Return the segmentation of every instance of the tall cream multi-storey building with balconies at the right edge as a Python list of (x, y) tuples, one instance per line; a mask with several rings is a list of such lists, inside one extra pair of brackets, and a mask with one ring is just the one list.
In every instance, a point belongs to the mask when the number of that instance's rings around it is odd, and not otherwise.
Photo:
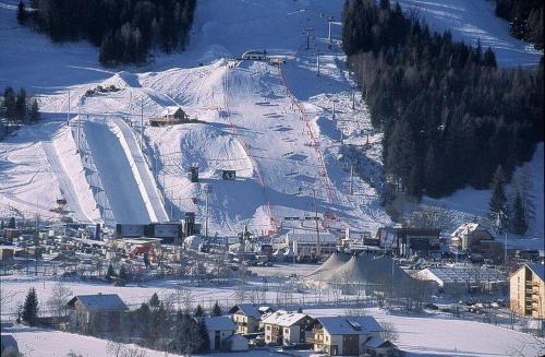
[(545, 265), (531, 263), (509, 277), (509, 306), (519, 316), (545, 320)]

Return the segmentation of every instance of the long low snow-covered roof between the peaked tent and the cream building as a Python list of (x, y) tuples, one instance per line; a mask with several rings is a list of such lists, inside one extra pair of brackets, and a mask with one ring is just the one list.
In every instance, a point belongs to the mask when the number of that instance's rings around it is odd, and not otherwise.
[(475, 266), (444, 266), (428, 267), (419, 272), (425, 273), (428, 277), (432, 275), (443, 283), (476, 283), (476, 282), (505, 282), (506, 275), (496, 269), (475, 267)]

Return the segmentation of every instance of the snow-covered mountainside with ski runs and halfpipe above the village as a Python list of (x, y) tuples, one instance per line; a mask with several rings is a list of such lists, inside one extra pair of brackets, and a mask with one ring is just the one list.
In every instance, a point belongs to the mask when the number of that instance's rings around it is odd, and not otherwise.
[[(268, 0), (198, 1), (185, 52), (156, 53), (153, 63), (114, 70), (101, 68), (96, 48), (85, 41), (52, 44), (21, 27), (13, 10), (17, 1), (0, 2), (8, 4), (0, 7), (0, 33), (5, 35), (0, 36), (0, 85), (38, 94), (46, 117), (57, 123), (22, 129), (0, 143), (0, 175), (8, 178), (0, 188), (3, 215), (17, 207), (25, 215), (56, 217), (50, 209), (66, 197), (75, 218), (110, 223), (179, 219), (184, 212), (196, 212), (203, 222), (208, 201), (210, 235), (235, 235), (245, 225), (258, 234), (315, 229), (313, 221), (283, 219), (313, 216), (315, 209), (324, 228), (373, 231), (391, 224), (377, 191), (384, 180), (382, 134), (373, 130), (346, 68), (340, 26), (332, 26), (332, 46), (327, 46), (327, 17), (340, 19), (343, 0), (278, 0), (275, 5)], [(481, 38), (497, 50), (501, 66), (538, 60), (528, 44), (508, 35), (507, 23), (494, 16), (485, 0), (401, 3), (407, 10), (416, 7), (434, 28), (451, 28), (467, 41)], [(310, 49), (304, 28), (313, 29)], [(250, 49), (266, 49), (287, 61), (278, 68), (233, 60)], [(84, 95), (97, 85), (119, 91)], [(147, 118), (171, 105), (199, 122), (147, 124)], [(69, 107), (72, 126), (74, 114), (82, 114), (98, 172), (87, 167), (86, 156), (75, 154), (73, 139), (56, 141), (55, 152), (48, 145)], [(135, 136), (141, 111), (143, 152)], [(110, 126), (99, 123), (104, 118)], [(186, 177), (194, 164), (201, 182)], [(31, 174), (26, 165), (48, 174)], [(235, 170), (237, 180), (222, 180), (223, 169)], [(543, 180), (542, 172), (533, 172)], [(41, 204), (32, 203), (36, 197)], [(473, 214), (448, 202), (426, 204), (445, 206), (463, 219)], [(106, 218), (109, 210), (113, 217)]]

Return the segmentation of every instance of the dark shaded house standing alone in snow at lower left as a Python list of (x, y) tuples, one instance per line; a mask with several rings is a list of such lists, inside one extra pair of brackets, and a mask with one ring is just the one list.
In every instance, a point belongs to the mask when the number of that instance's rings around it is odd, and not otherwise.
[(77, 295), (68, 307), (71, 329), (94, 333), (113, 331), (120, 324), (121, 314), (129, 311), (117, 294)]

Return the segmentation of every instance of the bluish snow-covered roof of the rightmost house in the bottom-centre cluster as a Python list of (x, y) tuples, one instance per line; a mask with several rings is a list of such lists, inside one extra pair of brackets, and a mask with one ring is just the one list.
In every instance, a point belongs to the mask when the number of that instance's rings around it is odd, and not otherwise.
[(318, 322), (331, 335), (364, 335), (383, 330), (373, 317), (324, 317)]

